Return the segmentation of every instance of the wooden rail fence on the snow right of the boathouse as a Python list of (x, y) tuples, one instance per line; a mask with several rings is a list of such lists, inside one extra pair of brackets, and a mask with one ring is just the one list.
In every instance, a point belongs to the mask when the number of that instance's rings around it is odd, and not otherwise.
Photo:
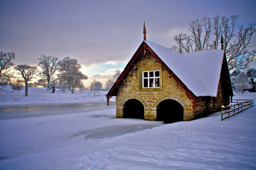
[[(229, 106), (221, 107), (221, 121), (254, 106), (254, 100), (237, 100), (236, 99), (236, 100), (232, 100), (231, 102), (237, 103), (237, 104), (234, 104), (234, 105), (231, 104)], [(224, 112), (224, 110), (227, 110), (227, 109), (228, 111)], [(223, 115), (226, 115), (226, 114), (228, 115), (224, 117)]]

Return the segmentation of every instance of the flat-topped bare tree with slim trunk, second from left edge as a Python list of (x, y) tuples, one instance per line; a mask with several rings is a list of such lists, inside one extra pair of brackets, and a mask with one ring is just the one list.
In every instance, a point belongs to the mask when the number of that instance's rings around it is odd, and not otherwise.
[(27, 64), (20, 64), (14, 67), (20, 72), (25, 82), (25, 96), (28, 96), (28, 82), (33, 79), (33, 76), (37, 73), (36, 66), (30, 66)]

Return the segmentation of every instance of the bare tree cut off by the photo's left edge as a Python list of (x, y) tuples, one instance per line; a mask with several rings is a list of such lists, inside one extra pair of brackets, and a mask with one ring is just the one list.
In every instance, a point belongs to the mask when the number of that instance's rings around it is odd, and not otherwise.
[(15, 59), (15, 53), (4, 53), (0, 52), (0, 84), (6, 84), (12, 77), (9, 72), (10, 68), (14, 65), (13, 60)]

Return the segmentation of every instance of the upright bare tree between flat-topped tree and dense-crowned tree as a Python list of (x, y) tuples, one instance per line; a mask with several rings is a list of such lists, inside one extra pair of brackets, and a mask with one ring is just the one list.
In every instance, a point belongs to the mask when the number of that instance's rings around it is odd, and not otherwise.
[(47, 56), (44, 54), (39, 59), (38, 66), (42, 68), (42, 72), (38, 74), (39, 77), (46, 79), (47, 89), (50, 89), (50, 81), (53, 78), (55, 72), (58, 70), (57, 57)]

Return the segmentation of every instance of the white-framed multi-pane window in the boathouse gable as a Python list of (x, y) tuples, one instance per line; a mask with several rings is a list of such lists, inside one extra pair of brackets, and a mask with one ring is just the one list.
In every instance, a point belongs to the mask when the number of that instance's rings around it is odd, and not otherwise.
[(143, 71), (142, 72), (143, 88), (159, 88), (160, 87), (160, 71)]

